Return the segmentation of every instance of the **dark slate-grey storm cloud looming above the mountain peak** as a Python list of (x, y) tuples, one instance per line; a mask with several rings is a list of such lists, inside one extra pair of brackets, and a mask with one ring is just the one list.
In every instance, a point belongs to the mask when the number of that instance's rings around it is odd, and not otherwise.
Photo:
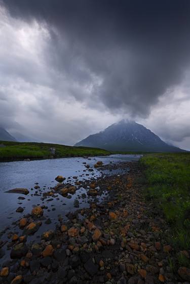
[[(13, 17), (48, 26), (49, 63), (79, 84), (94, 82), (91, 106), (102, 102), (113, 111), (146, 116), (188, 68), (188, 0), (6, 0), (4, 5)], [(88, 102), (77, 88), (72, 92)]]

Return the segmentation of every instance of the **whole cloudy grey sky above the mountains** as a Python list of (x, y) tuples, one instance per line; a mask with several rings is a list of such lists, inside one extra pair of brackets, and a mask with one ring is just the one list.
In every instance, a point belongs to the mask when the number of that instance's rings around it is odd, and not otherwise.
[(0, 124), (73, 145), (123, 118), (190, 150), (188, 0), (0, 0)]

